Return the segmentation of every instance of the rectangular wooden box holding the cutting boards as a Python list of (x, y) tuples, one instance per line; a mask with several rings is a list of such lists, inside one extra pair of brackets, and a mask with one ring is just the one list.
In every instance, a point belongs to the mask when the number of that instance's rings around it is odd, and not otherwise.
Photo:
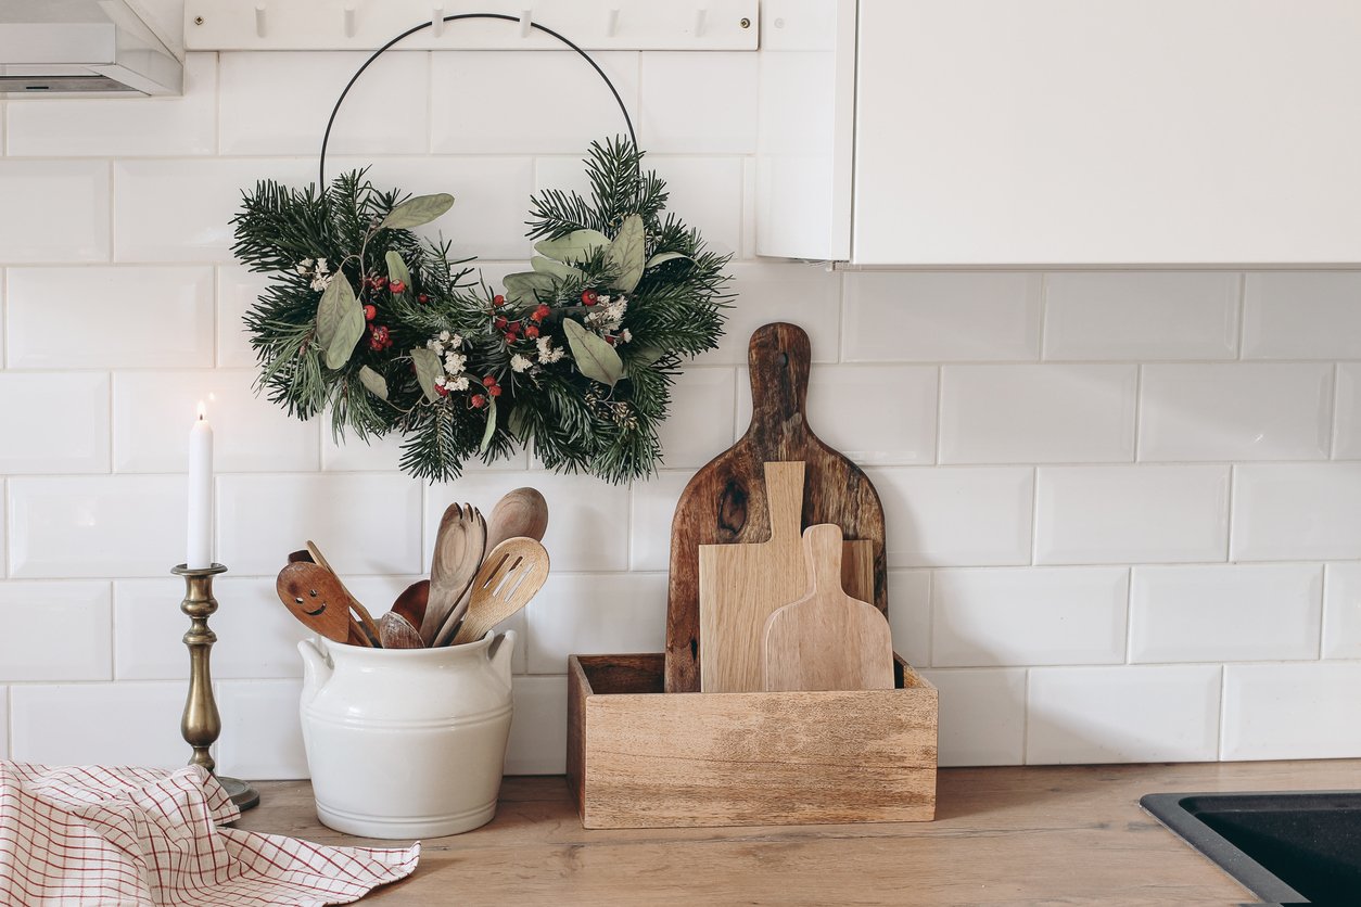
[(666, 694), (664, 657), (568, 660), (568, 783), (587, 828), (935, 817), (936, 689)]

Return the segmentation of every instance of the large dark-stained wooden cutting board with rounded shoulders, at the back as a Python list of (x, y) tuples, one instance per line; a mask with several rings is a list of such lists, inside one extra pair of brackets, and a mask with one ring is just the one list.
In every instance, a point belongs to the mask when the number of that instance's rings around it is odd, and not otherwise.
[[(870, 479), (825, 445), (807, 420), (808, 335), (770, 324), (751, 335), (751, 424), (738, 443), (709, 461), (680, 492), (671, 521), (667, 590), (667, 692), (700, 691), (700, 545), (750, 544), (770, 538), (765, 464), (803, 461), (800, 530), (841, 526), (845, 538), (874, 543), (875, 608), (887, 611), (883, 506)], [(849, 590), (848, 590), (849, 592)]]

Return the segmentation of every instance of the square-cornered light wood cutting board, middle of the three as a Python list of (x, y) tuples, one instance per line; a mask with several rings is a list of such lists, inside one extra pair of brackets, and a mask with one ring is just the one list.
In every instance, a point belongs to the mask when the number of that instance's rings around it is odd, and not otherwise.
[[(770, 538), (744, 545), (700, 545), (700, 689), (757, 692), (764, 688), (761, 651), (766, 620), (807, 594), (808, 568), (800, 536), (804, 464), (765, 464)], [(837, 543), (841, 541), (837, 529)], [(837, 589), (871, 596), (874, 543), (844, 543)]]

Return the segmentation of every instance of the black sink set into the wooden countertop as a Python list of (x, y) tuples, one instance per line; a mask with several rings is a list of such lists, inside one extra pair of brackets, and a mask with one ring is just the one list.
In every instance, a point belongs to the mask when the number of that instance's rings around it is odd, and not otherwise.
[(1139, 805), (1264, 902), (1361, 904), (1361, 791), (1149, 794)]

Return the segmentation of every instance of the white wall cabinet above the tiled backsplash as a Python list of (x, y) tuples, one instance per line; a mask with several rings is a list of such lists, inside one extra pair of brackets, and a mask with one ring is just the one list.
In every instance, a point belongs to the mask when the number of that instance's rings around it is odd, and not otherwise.
[(766, 0), (757, 246), (1361, 264), (1356, 0)]

